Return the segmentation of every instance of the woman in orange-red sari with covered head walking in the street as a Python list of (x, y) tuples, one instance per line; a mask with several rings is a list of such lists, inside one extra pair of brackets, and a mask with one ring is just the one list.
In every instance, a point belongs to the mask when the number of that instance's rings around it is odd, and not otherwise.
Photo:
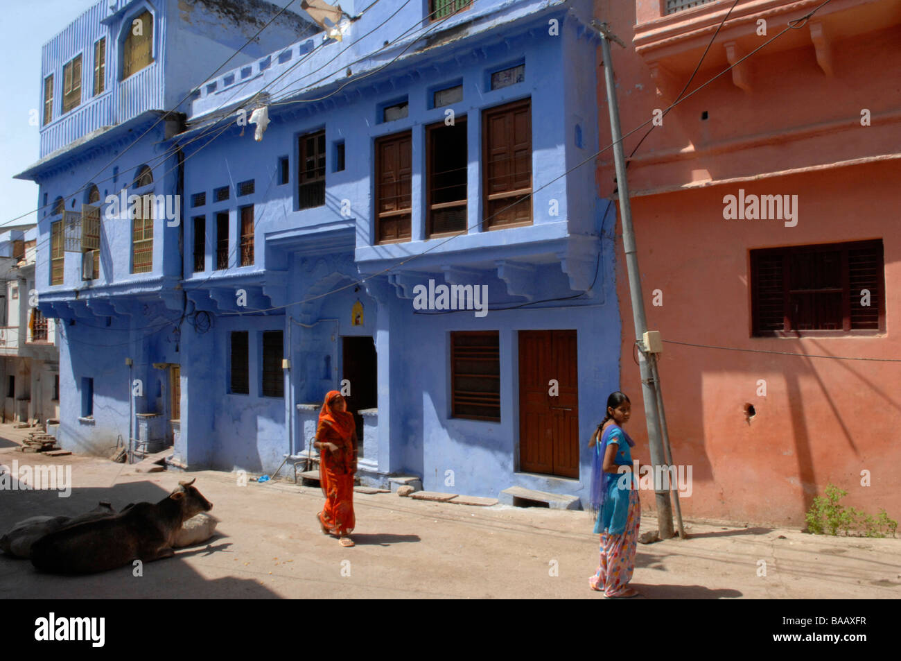
[(349, 535), (356, 524), (353, 474), (357, 472), (357, 425), (338, 390), (325, 396), (313, 445), (319, 450), (319, 481), (325, 494), (325, 507), (316, 519), (324, 534), (339, 537), (341, 546), (354, 546)]

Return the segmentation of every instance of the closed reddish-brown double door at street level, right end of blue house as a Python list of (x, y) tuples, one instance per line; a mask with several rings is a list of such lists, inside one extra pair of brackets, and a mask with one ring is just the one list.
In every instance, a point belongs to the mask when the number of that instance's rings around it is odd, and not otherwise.
[(574, 330), (519, 332), (520, 470), (578, 477), (577, 359)]

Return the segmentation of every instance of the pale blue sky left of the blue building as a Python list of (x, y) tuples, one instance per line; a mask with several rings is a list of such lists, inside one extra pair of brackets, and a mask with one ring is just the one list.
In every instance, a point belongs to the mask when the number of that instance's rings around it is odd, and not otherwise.
[[(0, 226), (35, 222), (38, 186), (13, 179), (40, 158), (39, 126), (29, 112), (41, 107), (41, 46), (97, 0), (3, 0), (0, 21)], [(39, 113), (40, 115), (40, 113)], [(19, 220), (15, 216), (29, 214)]]

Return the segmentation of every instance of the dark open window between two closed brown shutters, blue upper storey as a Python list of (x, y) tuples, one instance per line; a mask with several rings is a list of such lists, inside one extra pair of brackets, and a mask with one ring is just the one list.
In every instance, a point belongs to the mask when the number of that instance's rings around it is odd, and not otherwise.
[(426, 149), (429, 235), (462, 232), (467, 227), (466, 119), (458, 118), (452, 126), (429, 126)]

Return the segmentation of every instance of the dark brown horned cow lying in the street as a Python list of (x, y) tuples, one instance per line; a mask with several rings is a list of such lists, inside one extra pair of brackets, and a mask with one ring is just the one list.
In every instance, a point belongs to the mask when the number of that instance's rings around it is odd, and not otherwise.
[(113, 517), (67, 526), (32, 546), (32, 565), (53, 574), (95, 574), (175, 555), (173, 544), (182, 524), (213, 509), (191, 482), (158, 503), (139, 502)]

